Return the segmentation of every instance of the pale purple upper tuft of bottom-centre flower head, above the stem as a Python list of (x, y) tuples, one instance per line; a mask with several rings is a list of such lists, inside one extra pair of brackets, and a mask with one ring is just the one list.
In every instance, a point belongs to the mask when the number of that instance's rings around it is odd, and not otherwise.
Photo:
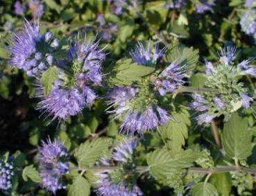
[(135, 139), (130, 139), (119, 143), (112, 153), (112, 158), (114, 161), (126, 162), (133, 157), (133, 151), (138, 145), (138, 141)]

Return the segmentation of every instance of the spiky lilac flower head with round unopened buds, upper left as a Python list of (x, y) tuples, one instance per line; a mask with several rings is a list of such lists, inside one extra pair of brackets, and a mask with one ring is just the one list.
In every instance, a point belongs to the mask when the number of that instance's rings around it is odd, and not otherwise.
[(58, 47), (51, 46), (56, 39), (49, 35), (51, 33), (40, 34), (39, 24), (25, 21), (22, 33), (12, 35), (8, 42), (10, 64), (23, 69), (28, 75), (37, 75), (45, 71), (53, 62), (53, 56), (49, 51), (54, 51)]

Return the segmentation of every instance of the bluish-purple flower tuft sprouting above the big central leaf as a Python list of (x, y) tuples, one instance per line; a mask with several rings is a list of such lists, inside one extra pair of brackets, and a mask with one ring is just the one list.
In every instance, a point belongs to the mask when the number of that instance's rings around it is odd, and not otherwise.
[(155, 44), (155, 49), (153, 52), (153, 55), (151, 53), (151, 40), (149, 40), (148, 45), (145, 46), (138, 42), (136, 48), (132, 51), (130, 51), (131, 57), (133, 57), (133, 60), (137, 62), (138, 64), (142, 65), (151, 65), (155, 64), (155, 62), (160, 59), (164, 55), (164, 51), (166, 48), (162, 48), (161, 50), (158, 48), (158, 44)]

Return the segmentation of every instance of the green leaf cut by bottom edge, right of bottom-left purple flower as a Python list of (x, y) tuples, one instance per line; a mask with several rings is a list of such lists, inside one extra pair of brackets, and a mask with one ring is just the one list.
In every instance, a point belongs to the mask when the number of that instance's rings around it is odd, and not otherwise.
[(73, 184), (69, 186), (67, 195), (68, 196), (89, 196), (90, 186), (84, 177), (81, 177), (80, 175), (76, 177)]

